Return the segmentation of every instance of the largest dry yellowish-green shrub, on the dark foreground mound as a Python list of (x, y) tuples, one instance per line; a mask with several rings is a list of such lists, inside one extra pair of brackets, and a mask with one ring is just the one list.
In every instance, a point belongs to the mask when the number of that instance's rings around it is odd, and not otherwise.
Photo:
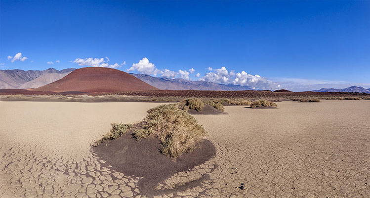
[[(137, 136), (153, 134), (162, 143), (162, 153), (176, 158), (181, 153), (192, 150), (195, 144), (206, 135), (205, 129), (197, 120), (176, 104), (163, 104), (147, 111), (144, 131), (137, 130)], [(134, 133), (136, 137), (136, 133)], [(144, 134), (142, 136), (141, 134)]]

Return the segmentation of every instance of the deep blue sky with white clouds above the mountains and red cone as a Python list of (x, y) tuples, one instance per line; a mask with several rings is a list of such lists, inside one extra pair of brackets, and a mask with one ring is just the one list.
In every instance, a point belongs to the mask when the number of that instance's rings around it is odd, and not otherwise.
[(370, 1), (0, 1), (0, 69), (89, 65), (256, 89), (369, 88)]

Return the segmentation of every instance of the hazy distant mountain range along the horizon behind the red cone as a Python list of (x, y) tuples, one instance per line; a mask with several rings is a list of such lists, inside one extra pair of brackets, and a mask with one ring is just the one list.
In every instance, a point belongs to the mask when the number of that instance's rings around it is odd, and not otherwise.
[[(31, 89), (63, 79), (75, 68), (57, 70), (49, 68), (46, 70), (0, 70), (0, 89)], [(224, 85), (207, 81), (189, 81), (180, 78), (153, 77), (146, 74), (133, 74), (132, 76), (141, 81), (162, 90), (214, 90), (214, 91), (239, 91), (253, 90), (248, 86)], [(127, 77), (127, 75), (126, 75)], [(344, 89), (323, 88), (313, 92), (358, 92), (370, 94), (370, 89), (351, 86)]]

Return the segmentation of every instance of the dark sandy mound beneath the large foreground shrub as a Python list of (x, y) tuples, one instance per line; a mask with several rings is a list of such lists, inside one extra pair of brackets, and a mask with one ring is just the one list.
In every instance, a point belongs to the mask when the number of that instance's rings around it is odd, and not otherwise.
[(208, 140), (203, 140), (191, 152), (183, 153), (173, 161), (160, 151), (161, 143), (155, 137), (137, 140), (127, 133), (122, 137), (93, 147), (93, 151), (111, 165), (113, 170), (127, 176), (143, 177), (138, 183), (141, 194), (153, 195), (158, 183), (173, 174), (188, 171), (216, 155), (216, 149)]

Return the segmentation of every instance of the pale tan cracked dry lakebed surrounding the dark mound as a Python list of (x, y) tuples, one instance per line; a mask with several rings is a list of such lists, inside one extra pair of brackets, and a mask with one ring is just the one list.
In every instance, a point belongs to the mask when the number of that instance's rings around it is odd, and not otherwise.
[[(139, 121), (159, 104), (0, 101), (0, 197), (140, 197), (140, 178), (110, 169), (90, 144), (111, 122)], [(217, 155), (159, 184), (158, 195), (369, 197), (370, 101), (278, 105), (194, 115)]]

